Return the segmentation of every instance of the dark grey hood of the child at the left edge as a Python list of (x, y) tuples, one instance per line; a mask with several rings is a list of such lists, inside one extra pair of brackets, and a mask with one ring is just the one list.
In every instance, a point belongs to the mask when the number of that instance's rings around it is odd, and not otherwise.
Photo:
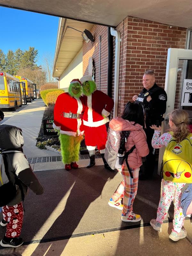
[(16, 126), (0, 125), (0, 148), (20, 149), (24, 144), (22, 130)]

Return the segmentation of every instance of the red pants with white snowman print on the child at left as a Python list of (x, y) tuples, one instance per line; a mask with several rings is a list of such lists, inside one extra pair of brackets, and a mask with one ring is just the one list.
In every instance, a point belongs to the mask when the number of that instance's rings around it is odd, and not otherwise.
[(21, 233), (23, 224), (23, 205), (22, 202), (13, 206), (3, 206), (3, 219), (8, 222), (6, 237), (18, 237)]

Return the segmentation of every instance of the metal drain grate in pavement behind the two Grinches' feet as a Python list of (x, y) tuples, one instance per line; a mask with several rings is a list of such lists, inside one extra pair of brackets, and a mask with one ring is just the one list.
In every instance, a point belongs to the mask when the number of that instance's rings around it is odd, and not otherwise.
[[(80, 159), (89, 159), (89, 155), (79, 155)], [(100, 153), (95, 154), (95, 158), (101, 158)], [(47, 163), (47, 162), (60, 162), (61, 156), (43, 156), (43, 157), (28, 157), (29, 163)]]

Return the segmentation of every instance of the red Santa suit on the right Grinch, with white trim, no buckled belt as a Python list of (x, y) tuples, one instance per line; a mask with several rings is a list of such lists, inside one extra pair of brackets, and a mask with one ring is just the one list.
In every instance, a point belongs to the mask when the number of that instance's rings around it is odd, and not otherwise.
[[(109, 114), (114, 106), (114, 101), (102, 91), (96, 90), (89, 96), (83, 96), (85, 111), (83, 124), (85, 144), (88, 150), (97, 148), (100, 153), (105, 152), (107, 130), (105, 124), (109, 122)], [(106, 117), (103, 118), (102, 115)]]

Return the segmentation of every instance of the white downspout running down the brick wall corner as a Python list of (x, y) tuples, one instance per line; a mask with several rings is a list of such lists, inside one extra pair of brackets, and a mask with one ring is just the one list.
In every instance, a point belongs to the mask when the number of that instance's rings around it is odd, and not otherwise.
[(119, 62), (120, 62), (120, 32), (111, 28), (111, 35), (115, 36), (115, 81), (114, 81), (114, 110), (113, 117), (117, 117), (118, 113), (118, 92), (119, 92)]

